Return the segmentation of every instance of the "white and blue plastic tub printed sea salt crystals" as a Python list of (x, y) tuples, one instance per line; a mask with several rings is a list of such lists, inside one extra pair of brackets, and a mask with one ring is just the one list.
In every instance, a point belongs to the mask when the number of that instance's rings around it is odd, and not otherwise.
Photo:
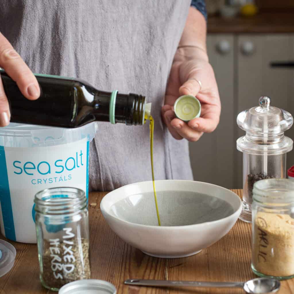
[(88, 197), (89, 142), (96, 124), (53, 128), (10, 123), (0, 128), (0, 227), (8, 239), (36, 243), (34, 196), (73, 187)]

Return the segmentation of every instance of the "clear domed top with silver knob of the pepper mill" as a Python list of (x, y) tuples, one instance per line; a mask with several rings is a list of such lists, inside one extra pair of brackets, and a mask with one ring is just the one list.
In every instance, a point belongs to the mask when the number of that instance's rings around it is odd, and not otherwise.
[(238, 126), (258, 136), (271, 136), (287, 131), (293, 125), (293, 116), (288, 111), (270, 106), (270, 102), (270, 97), (260, 97), (257, 107), (239, 113)]

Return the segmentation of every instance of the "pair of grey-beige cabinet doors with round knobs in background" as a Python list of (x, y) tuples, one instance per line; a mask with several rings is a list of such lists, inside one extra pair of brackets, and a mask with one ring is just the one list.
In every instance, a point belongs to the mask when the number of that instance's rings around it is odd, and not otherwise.
[[(207, 46), (222, 113), (215, 132), (189, 143), (194, 179), (240, 188), (243, 163), (236, 139), (245, 132), (237, 126), (237, 115), (257, 106), (264, 95), (294, 115), (294, 70), (270, 66), (294, 60), (294, 34), (209, 34)], [(294, 139), (294, 127), (286, 135)], [(294, 151), (287, 154), (287, 168), (292, 165)]]

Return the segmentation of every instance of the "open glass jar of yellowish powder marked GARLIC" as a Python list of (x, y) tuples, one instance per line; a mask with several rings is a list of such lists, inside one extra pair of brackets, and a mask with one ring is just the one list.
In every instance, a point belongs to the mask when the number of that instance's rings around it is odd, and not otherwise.
[(261, 180), (252, 204), (253, 272), (279, 280), (294, 277), (294, 182)]

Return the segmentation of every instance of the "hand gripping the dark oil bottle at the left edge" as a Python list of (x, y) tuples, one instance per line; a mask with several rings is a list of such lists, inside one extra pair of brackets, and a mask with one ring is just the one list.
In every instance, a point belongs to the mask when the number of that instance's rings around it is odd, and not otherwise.
[[(36, 77), (1, 32), (0, 67), (16, 82), (19, 90), (26, 98), (29, 100), (39, 98), (40, 87)], [(0, 78), (0, 127), (7, 126), (9, 121), (9, 104)]]

